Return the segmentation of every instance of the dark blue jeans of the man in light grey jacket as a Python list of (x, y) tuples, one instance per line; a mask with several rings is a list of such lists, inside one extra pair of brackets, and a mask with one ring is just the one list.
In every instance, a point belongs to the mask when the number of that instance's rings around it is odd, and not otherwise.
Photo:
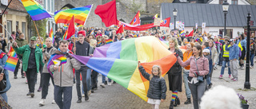
[(72, 87), (59, 87), (55, 85), (54, 100), (60, 109), (70, 109), (72, 100)]

